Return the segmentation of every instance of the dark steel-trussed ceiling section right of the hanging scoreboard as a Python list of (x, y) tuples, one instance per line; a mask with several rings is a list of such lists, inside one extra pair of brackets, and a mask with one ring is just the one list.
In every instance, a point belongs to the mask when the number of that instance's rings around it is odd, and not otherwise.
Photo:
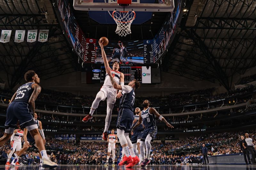
[[(186, 2), (190, 9), (193, 2)], [(163, 71), (193, 80), (218, 80), (230, 89), (233, 77), (256, 66), (255, 0), (207, 0), (194, 26), (180, 30), (163, 59)]]

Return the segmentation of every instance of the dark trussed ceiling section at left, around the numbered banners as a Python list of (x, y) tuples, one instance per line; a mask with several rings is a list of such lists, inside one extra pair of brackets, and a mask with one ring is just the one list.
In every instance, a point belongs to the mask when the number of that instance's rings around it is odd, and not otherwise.
[[(21, 83), (27, 70), (35, 70), (41, 79), (75, 71), (77, 56), (72, 52), (72, 47), (63, 34), (59, 24), (62, 21), (49, 22), (44, 15), (47, 11), (44, 11), (42, 4), (40, 8), (37, 1), (36, 13), (35, 10), (33, 13), (30, 8), (25, 8), (26, 0), (20, 2), (24, 9), (20, 13), (11, 0), (5, 1), (4, 7), (0, 5), (0, 29), (12, 30), (10, 42), (0, 43), (0, 70), (5, 72), (9, 87), (13, 88)], [(30, 29), (49, 29), (48, 41), (28, 43), (25, 34), (24, 42), (14, 42), (15, 30)]]

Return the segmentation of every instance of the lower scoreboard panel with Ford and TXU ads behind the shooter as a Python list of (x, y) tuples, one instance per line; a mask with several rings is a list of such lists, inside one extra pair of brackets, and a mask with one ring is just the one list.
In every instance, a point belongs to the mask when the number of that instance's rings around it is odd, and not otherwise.
[[(151, 67), (147, 69), (146, 66), (121, 66), (119, 71), (124, 74), (124, 83), (129, 83), (133, 79), (140, 83), (151, 83)], [(88, 83), (104, 83), (106, 77), (105, 66), (93, 69), (92, 72), (87, 71), (86, 77)]]

